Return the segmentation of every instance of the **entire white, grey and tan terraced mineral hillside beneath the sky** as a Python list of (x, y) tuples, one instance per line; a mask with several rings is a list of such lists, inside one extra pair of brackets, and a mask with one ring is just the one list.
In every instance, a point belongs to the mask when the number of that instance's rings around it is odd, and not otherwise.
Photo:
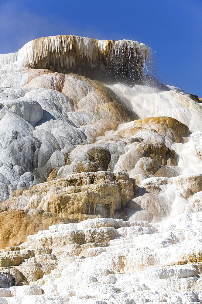
[(149, 51), (0, 55), (1, 304), (202, 303), (201, 100), (143, 74)]

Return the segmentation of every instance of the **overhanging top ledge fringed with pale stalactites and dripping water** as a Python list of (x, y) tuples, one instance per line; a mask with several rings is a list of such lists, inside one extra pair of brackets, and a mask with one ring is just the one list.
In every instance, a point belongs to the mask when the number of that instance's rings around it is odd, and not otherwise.
[(97, 40), (73, 35), (38, 38), (18, 52), (0, 55), (0, 64), (75, 73), (101, 81), (136, 82), (150, 48), (132, 40)]

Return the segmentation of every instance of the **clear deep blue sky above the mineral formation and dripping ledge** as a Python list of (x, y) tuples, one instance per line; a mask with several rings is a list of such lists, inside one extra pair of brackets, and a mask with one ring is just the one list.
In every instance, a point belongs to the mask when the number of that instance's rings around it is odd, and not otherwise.
[(137, 40), (159, 81), (202, 98), (201, 0), (4, 0), (0, 12), (0, 54), (43, 36)]

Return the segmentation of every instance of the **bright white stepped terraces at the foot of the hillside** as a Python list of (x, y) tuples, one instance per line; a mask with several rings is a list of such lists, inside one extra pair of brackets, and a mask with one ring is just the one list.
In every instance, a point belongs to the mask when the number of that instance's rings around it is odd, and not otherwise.
[(0, 274), (10, 273), (16, 283), (1, 288), (0, 299), (201, 302), (201, 213), (150, 224), (98, 218), (50, 226), (19, 247), (1, 250)]

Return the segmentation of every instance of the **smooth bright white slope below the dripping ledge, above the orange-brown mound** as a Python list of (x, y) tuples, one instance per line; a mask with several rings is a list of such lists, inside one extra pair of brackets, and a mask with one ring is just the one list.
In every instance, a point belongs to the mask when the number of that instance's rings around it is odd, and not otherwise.
[(146, 85), (129, 87), (121, 83), (109, 86), (140, 117), (169, 116), (186, 124), (191, 132), (202, 129), (202, 105), (178, 91), (160, 91)]

